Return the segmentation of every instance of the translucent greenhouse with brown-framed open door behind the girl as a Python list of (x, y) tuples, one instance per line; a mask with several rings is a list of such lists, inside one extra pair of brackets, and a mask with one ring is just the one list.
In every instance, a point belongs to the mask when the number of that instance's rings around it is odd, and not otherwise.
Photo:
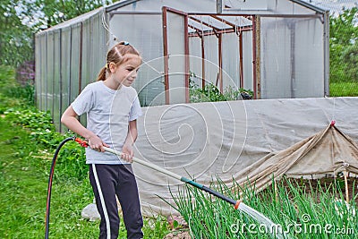
[[(191, 102), (192, 85), (253, 98), (328, 96), (328, 12), (300, 0), (121, 1), (36, 35), (37, 104), (60, 115), (126, 40), (142, 55), (141, 107)], [(81, 119), (85, 121), (85, 119)]]

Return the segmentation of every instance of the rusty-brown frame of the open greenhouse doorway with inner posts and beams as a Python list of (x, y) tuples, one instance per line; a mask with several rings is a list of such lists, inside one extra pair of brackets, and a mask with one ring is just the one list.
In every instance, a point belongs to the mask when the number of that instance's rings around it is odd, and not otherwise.
[[(202, 57), (202, 88), (205, 87), (205, 51), (204, 51), (204, 44), (202, 36), (200, 36), (199, 31), (194, 33), (189, 33), (189, 28), (195, 29), (194, 27), (189, 25), (188, 19), (191, 19), (193, 21), (198, 21), (193, 17), (193, 15), (203, 15), (203, 16), (209, 16), (211, 18), (217, 19), (218, 21), (223, 21), (227, 25), (231, 27), (230, 30), (227, 29), (217, 29), (214, 26), (206, 25), (207, 27), (210, 27), (211, 33), (205, 33), (207, 36), (209, 35), (216, 35), (217, 36), (217, 42), (218, 42), (218, 49), (217, 49), (217, 56), (218, 56), (218, 67), (219, 72), (217, 73), (217, 84), (218, 89), (221, 93), (223, 93), (223, 57), (222, 57), (222, 35), (225, 33), (234, 32), (235, 28), (239, 28), (239, 26), (233, 25), (232, 22), (228, 22), (222, 18), (219, 18), (219, 16), (239, 16), (239, 17), (246, 17), (251, 18), (252, 25), (251, 26), (245, 26), (240, 27), (241, 31), (252, 31), (252, 90), (254, 94), (254, 98), (260, 98), (260, 52), (258, 52), (258, 49), (260, 50), (260, 47), (258, 47), (258, 44), (260, 44), (260, 30), (258, 30), (257, 22), (260, 22), (260, 16), (254, 15), (254, 14), (226, 14), (226, 13), (184, 13), (183, 11), (179, 11), (170, 7), (163, 6), (162, 7), (162, 18), (163, 18), (163, 47), (164, 47), (164, 73), (165, 73), (165, 92), (166, 92), (166, 104), (170, 104), (169, 100), (169, 61), (168, 58), (170, 56), (169, 50), (168, 50), (168, 24), (167, 24), (167, 13), (176, 13), (178, 15), (183, 16), (184, 21), (184, 54), (185, 54), (185, 102), (188, 103), (189, 100), (189, 76), (190, 76), (190, 69), (189, 69), (189, 37), (199, 37), (201, 38), (201, 57)], [(205, 24), (205, 22), (201, 21), (201, 24)], [(240, 38), (240, 49), (239, 49), (239, 64), (240, 64), (240, 88), (243, 88), (243, 38), (242, 36), (238, 36)]]

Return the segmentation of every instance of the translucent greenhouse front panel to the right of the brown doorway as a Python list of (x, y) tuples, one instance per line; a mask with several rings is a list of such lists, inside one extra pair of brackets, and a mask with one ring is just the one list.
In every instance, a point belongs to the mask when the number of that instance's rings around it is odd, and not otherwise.
[(261, 98), (323, 97), (320, 20), (261, 18), (260, 23)]

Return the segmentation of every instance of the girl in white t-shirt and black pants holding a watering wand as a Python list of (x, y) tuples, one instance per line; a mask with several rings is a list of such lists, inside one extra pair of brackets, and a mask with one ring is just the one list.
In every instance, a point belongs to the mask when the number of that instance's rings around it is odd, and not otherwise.
[[(119, 215), (115, 195), (124, 215), (127, 238), (142, 238), (141, 206), (132, 172), (133, 143), (137, 138), (137, 118), (141, 106), (131, 85), (137, 77), (141, 55), (127, 42), (120, 42), (107, 53), (107, 64), (64, 111), (61, 122), (89, 141), (86, 163), (90, 184), (101, 217), (99, 238), (117, 238)], [(87, 128), (77, 116), (87, 114)], [(122, 151), (122, 157), (103, 147)]]

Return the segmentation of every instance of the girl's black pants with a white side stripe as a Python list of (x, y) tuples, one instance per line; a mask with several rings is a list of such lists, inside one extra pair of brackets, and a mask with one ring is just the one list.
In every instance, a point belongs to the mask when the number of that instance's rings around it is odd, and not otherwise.
[(90, 165), (90, 184), (101, 217), (99, 238), (118, 237), (119, 215), (115, 195), (121, 203), (127, 238), (142, 238), (143, 219), (132, 165)]

